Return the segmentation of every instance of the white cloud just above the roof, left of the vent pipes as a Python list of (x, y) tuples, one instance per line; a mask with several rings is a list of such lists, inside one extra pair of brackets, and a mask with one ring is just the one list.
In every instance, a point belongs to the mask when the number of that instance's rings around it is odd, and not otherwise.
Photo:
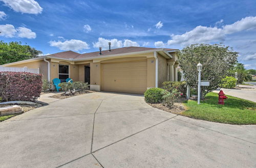
[(66, 41), (50, 41), (50, 46), (57, 47), (60, 50), (82, 50), (82, 49), (90, 49), (87, 42), (81, 40), (66, 40)]

